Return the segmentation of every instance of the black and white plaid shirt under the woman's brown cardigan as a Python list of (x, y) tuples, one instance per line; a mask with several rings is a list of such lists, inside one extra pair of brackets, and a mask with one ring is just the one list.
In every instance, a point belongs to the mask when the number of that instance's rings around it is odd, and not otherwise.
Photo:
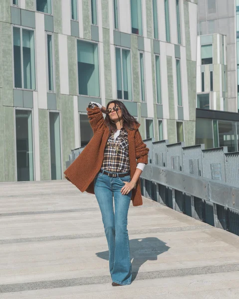
[[(118, 147), (118, 153), (116, 147)], [(120, 135), (115, 142), (114, 133), (109, 137), (101, 168), (112, 172), (127, 172), (130, 170), (128, 133), (124, 128), (120, 130)]]

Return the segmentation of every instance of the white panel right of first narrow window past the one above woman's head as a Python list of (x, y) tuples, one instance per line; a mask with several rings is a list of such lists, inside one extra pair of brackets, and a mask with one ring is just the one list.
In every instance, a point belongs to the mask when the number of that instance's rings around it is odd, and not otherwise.
[(145, 90), (146, 90), (146, 102), (148, 117), (154, 118), (154, 95), (153, 95), (153, 78), (152, 78), (152, 62), (151, 62), (151, 53), (144, 53), (145, 59)]

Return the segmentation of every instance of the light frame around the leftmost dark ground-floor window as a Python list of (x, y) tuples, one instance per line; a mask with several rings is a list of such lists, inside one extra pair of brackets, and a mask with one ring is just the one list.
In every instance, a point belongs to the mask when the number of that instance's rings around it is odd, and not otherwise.
[(31, 111), (31, 128), (32, 128), (32, 151), (33, 151), (33, 180), (36, 180), (36, 169), (35, 169), (35, 135), (34, 135), (34, 113), (33, 108), (24, 107), (13, 107), (13, 118), (14, 118), (14, 154), (15, 154), (15, 180), (17, 180), (17, 154), (16, 154), (16, 110), (27, 110)]

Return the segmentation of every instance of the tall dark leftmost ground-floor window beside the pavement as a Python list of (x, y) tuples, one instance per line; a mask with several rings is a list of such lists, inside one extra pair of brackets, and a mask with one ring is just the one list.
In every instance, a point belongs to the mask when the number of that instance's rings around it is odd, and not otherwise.
[(33, 181), (31, 110), (15, 110), (17, 181)]

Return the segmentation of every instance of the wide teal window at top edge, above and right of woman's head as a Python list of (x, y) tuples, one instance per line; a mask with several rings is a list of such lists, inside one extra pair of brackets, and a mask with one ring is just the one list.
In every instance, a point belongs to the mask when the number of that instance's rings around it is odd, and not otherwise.
[(141, 0), (130, 0), (132, 33), (143, 35)]

